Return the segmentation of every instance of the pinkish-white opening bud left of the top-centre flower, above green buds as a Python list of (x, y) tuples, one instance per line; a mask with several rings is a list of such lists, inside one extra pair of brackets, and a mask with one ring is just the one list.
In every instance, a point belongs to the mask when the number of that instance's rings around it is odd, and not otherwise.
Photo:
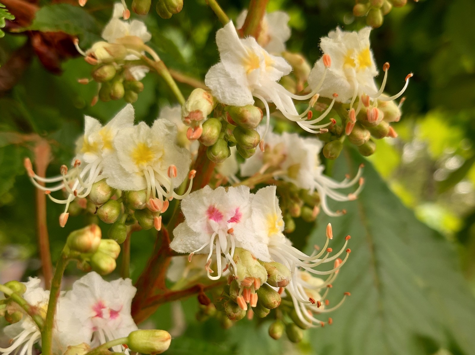
[(190, 125), (193, 121), (202, 121), (213, 112), (215, 106), (216, 100), (209, 91), (194, 89), (181, 108), (183, 122)]

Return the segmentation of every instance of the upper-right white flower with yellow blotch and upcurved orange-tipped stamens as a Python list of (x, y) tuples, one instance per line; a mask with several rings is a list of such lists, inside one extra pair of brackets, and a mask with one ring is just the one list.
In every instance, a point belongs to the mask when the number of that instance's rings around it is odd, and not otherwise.
[[(312, 88), (319, 88), (321, 96), (332, 97), (337, 93), (337, 101), (350, 103), (351, 128), (347, 129), (347, 134), (351, 133), (354, 126), (355, 116), (361, 110), (362, 105), (370, 106), (370, 101), (376, 103), (380, 101), (392, 101), (403, 94), (409, 85), (409, 78), (406, 77), (406, 84), (402, 90), (394, 96), (382, 96), (389, 69), (389, 63), (383, 66), (384, 78), (380, 89), (376, 87), (374, 77), (378, 75), (376, 64), (370, 48), (370, 27), (365, 27), (360, 31), (349, 32), (337, 28), (323, 37), (320, 47), (324, 55), (331, 58), (331, 67), (325, 64), (325, 58), (319, 59), (308, 77), (308, 83)], [(359, 98), (356, 111), (353, 104)]]

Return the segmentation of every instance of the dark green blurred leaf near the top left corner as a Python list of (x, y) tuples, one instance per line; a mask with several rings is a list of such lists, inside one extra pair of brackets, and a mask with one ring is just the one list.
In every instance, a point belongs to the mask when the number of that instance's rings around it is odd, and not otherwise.
[(80, 38), (81, 47), (87, 48), (99, 39), (99, 27), (93, 16), (83, 8), (69, 4), (53, 4), (41, 7), (33, 23), (25, 29), (42, 32), (62, 31)]

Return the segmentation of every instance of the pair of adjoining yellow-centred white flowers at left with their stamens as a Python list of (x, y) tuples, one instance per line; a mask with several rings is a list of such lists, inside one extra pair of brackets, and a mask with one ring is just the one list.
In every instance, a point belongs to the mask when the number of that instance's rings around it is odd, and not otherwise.
[[(192, 179), (194, 176), (193, 171), (189, 173), (190, 152), (176, 144), (175, 125), (169, 120), (157, 119), (149, 127), (143, 122), (133, 125), (133, 120), (134, 110), (130, 104), (104, 126), (85, 116), (85, 133), (77, 140), (72, 169), (63, 165), (61, 175), (57, 177), (38, 176), (29, 159), (25, 159), (33, 184), (44, 190), (52, 201), (66, 204), (59, 218), (61, 226), (66, 224), (70, 203), (91, 193), (95, 197), (101, 195), (93, 202), (102, 205), (112, 197), (113, 189), (144, 190), (144, 203), (149, 210), (159, 213), (166, 211), (169, 200), (182, 199), (189, 193), (178, 195), (173, 191), (186, 177)], [(103, 180), (106, 185), (99, 184)], [(52, 182), (58, 184), (44, 186), (44, 183)], [(66, 199), (51, 196), (51, 192), (59, 190), (66, 192)], [(155, 218), (155, 223), (160, 225), (161, 217)]]

